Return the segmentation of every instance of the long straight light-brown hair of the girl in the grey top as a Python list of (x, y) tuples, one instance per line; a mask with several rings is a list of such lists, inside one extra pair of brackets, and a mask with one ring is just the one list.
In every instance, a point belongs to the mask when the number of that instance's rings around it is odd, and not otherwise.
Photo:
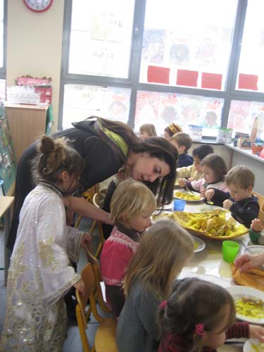
[(158, 220), (144, 232), (124, 281), (125, 296), (137, 280), (161, 298), (170, 294), (171, 282), (194, 253), (191, 235), (175, 221)]

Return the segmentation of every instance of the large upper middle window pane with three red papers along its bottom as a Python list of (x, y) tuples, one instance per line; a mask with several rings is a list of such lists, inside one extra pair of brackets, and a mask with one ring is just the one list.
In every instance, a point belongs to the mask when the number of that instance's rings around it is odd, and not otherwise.
[(147, 0), (140, 81), (225, 89), (236, 11), (237, 0)]

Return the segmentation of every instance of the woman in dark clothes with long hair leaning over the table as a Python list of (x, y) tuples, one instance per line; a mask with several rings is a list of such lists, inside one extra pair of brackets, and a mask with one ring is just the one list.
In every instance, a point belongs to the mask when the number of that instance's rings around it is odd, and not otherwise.
[[(115, 175), (120, 168), (124, 175), (134, 180), (145, 182), (158, 203), (170, 203), (176, 177), (177, 150), (161, 137), (140, 140), (132, 129), (122, 122), (91, 117), (73, 123), (73, 128), (54, 134), (65, 137), (80, 156), (84, 158), (85, 167), (80, 177), (79, 195), (94, 184)], [(8, 248), (13, 249), (18, 229), (19, 213), (27, 194), (34, 188), (30, 173), (32, 159), (37, 153), (37, 142), (31, 144), (23, 153), (18, 163), (15, 180), (15, 206)], [(94, 207), (84, 198), (68, 196), (65, 206), (87, 218), (111, 223), (109, 214)], [(56, 214), (54, 214), (56, 216)]]

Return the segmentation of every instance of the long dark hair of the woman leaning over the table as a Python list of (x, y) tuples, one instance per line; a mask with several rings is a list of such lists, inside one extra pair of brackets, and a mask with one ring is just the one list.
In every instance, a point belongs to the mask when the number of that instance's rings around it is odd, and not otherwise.
[(163, 177), (162, 180), (157, 179), (154, 182), (144, 182), (153, 194), (158, 192), (158, 205), (168, 204), (172, 200), (173, 187), (176, 178), (176, 162), (178, 158), (175, 146), (166, 141), (162, 137), (150, 137), (144, 141), (137, 137), (130, 126), (123, 122), (111, 121), (98, 118), (101, 125), (108, 130), (119, 134), (134, 153), (149, 153), (151, 158), (158, 158), (168, 164), (170, 173)]

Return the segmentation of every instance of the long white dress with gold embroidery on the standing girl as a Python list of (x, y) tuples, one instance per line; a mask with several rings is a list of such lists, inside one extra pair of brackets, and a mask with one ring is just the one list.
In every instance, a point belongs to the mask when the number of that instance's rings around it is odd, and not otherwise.
[(77, 262), (84, 234), (65, 224), (61, 194), (39, 184), (20, 212), (0, 351), (63, 350), (67, 322), (63, 295), (80, 279), (69, 258)]

